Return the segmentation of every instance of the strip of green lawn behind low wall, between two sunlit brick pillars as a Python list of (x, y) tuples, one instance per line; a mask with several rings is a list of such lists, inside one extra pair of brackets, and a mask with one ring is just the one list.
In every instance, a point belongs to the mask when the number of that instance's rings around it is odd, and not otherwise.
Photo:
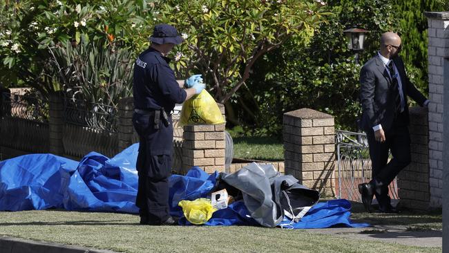
[(234, 158), (284, 160), (284, 145), (274, 137), (233, 137)]

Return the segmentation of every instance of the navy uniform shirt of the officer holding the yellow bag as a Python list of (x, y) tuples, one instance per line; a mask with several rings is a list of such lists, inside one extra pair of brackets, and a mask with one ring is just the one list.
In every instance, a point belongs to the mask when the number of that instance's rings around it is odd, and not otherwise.
[(154, 48), (137, 57), (134, 64), (133, 96), (136, 109), (172, 111), (181, 104), (187, 93), (180, 88), (175, 73), (169, 66), (170, 59)]

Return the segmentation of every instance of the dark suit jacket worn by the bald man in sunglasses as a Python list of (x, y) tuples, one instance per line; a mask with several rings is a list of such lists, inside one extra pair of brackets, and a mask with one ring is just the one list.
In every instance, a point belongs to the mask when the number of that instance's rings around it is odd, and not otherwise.
[[(420, 106), (426, 102), (426, 97), (410, 82), (405, 74), (401, 57), (394, 57), (394, 65), (401, 76), (405, 108), (403, 111), (404, 124), (409, 123), (407, 96), (412, 97)], [(372, 127), (381, 124), (384, 131), (392, 127), (394, 120), (394, 98), (392, 95), (390, 75), (379, 55), (372, 57), (363, 65), (360, 73), (360, 100), (362, 104), (362, 126), (365, 131), (372, 131)]]

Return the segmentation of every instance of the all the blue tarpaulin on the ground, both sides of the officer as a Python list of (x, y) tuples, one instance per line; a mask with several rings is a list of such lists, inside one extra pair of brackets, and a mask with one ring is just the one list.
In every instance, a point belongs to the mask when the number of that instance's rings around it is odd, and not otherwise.
[[(80, 162), (52, 154), (19, 156), (0, 162), (0, 210), (64, 208), (91, 212), (138, 214), (137, 196), (138, 144), (107, 158), (90, 152)], [(182, 217), (180, 200), (195, 200), (210, 194), (218, 173), (207, 174), (193, 167), (186, 176), (169, 178), (169, 203), (172, 216)], [(298, 223), (286, 218), (283, 225), (292, 228), (321, 228), (333, 225), (366, 227), (352, 223), (350, 202), (329, 200), (318, 203)], [(189, 225), (184, 217), (181, 225)], [(205, 225), (258, 225), (242, 201), (215, 212)]]

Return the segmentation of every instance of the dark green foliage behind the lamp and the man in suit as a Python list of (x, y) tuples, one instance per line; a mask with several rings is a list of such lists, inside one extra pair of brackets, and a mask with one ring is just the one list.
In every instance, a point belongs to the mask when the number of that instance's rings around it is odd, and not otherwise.
[[(421, 91), (427, 84), (427, 19), (424, 11), (441, 11), (443, 0), (374, 1), (331, 0), (336, 15), (320, 26), (307, 48), (294, 40), (256, 63), (248, 87), (238, 93), (237, 117), (257, 135), (280, 133), (285, 111), (309, 107), (336, 117), (338, 128), (356, 131), (359, 109), (360, 64), (379, 50), (379, 37), (387, 30), (403, 39), (401, 56), (408, 75)], [(345, 28), (370, 30), (360, 64), (346, 48)], [(252, 91), (252, 92), (250, 92)], [(279, 99), (281, 98), (281, 99)]]

